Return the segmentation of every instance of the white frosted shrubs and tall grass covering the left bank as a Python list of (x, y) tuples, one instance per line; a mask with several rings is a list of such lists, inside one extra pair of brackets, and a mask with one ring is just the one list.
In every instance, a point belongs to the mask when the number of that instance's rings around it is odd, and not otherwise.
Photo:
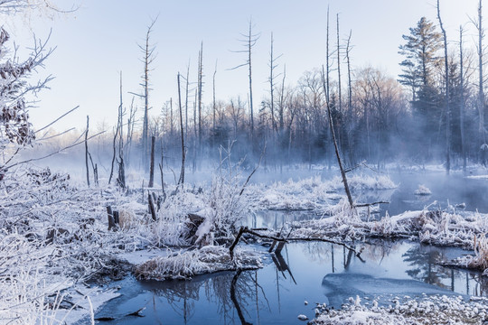
[[(97, 297), (90, 297), (88, 293), (80, 302), (73, 302), (72, 295), (66, 293), (69, 287), (101, 281), (101, 276), (127, 274), (123, 254), (229, 242), (235, 224), (251, 208), (247, 197), (241, 195), (245, 181), (239, 166), (229, 164), (204, 190), (168, 186), (169, 195), (154, 221), (142, 199), (147, 197), (140, 190), (124, 192), (107, 184), (87, 188), (71, 181), (67, 174), (26, 166), (7, 172), (0, 181), (0, 323), (54, 324), (64, 318), (70, 322), (75, 317), (69, 316), (66, 304), (92, 302), (73, 309), (72, 314), (80, 319), (113, 295), (97, 293)], [(119, 212), (116, 230), (108, 230), (108, 206)], [(189, 215), (195, 213), (202, 222), (191, 230)], [(257, 256), (248, 258), (239, 253), (235, 263), (226, 262), (226, 248), (219, 251), (219, 246), (210, 247), (188, 252), (192, 257), (200, 254), (206, 267), (192, 268), (191, 272), (185, 269), (181, 274), (235, 269), (251, 265), (250, 260), (255, 267), (260, 266)], [(161, 262), (165, 257), (159, 258)], [(167, 263), (171, 261), (168, 258)]]

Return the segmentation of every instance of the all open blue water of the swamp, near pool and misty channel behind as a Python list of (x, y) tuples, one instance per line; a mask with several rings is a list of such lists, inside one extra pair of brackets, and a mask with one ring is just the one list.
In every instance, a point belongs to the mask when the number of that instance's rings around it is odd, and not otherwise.
[[(394, 174), (399, 189), (355, 193), (356, 200), (389, 200), (380, 214), (423, 209), (437, 200), (446, 208), (465, 203), (465, 210), (488, 212), (488, 181), (436, 174)], [(424, 184), (430, 196), (416, 196)], [(266, 211), (247, 220), (253, 228), (280, 228), (288, 221), (317, 218), (307, 211)], [(257, 249), (266, 248), (257, 246)], [(297, 315), (314, 318), (314, 303), (340, 308), (356, 295), (362, 303), (380, 303), (394, 296), (461, 294), (488, 296), (488, 282), (477, 272), (439, 265), (468, 254), (459, 248), (423, 246), (408, 241), (377, 241), (361, 258), (343, 246), (327, 243), (287, 244), (282, 255), (267, 257), (257, 271), (196, 276), (192, 281), (137, 282), (119, 285), (122, 296), (108, 302), (96, 317), (107, 324), (290, 324)], [(309, 302), (305, 305), (305, 301)], [(124, 316), (145, 307), (145, 317)]]

